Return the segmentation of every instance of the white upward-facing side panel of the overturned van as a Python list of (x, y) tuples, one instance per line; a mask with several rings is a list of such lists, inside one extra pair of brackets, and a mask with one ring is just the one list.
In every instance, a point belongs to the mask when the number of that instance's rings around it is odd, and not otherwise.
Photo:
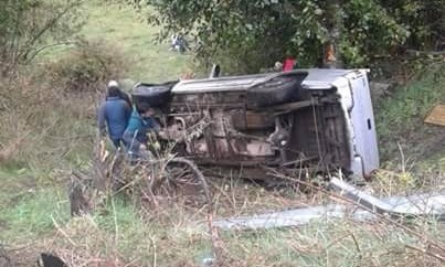
[[(308, 68), (296, 70), (295, 73), (307, 72), (303, 86), (308, 89), (329, 89), (338, 78), (351, 73), (360, 73), (363, 70), (332, 70), (332, 68)], [(218, 78), (187, 79), (178, 83), (173, 88), (173, 94), (188, 93), (210, 93), (210, 92), (234, 92), (245, 90), (254, 84), (262, 83), (273, 77), (279, 77), (287, 73), (266, 73), (242, 76), (225, 76)]]

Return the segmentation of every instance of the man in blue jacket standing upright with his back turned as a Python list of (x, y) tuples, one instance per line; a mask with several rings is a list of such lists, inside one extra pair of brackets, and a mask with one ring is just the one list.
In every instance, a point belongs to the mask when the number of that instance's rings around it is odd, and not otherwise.
[(109, 139), (116, 149), (120, 148), (130, 114), (131, 107), (121, 98), (117, 84), (108, 85), (106, 100), (98, 110), (98, 127), (100, 134), (105, 135), (107, 126)]

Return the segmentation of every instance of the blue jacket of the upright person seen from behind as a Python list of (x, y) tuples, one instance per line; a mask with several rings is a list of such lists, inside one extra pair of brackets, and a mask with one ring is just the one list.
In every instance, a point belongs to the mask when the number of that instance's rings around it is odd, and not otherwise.
[(109, 138), (112, 140), (120, 140), (127, 128), (130, 114), (131, 107), (127, 102), (119, 97), (107, 97), (98, 113), (99, 129), (104, 130), (106, 122)]

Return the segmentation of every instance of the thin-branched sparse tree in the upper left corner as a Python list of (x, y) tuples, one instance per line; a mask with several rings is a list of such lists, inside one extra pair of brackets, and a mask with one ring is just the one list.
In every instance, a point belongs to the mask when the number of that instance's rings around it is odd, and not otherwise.
[(0, 71), (6, 75), (44, 49), (68, 38), (83, 23), (83, 0), (0, 1)]

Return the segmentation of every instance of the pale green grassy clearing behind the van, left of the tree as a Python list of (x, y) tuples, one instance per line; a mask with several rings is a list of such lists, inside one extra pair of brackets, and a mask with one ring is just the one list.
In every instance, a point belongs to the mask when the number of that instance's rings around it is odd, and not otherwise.
[(169, 51), (166, 42), (158, 43), (159, 28), (148, 25), (130, 7), (98, 1), (86, 4), (88, 20), (81, 34), (118, 46), (133, 64), (128, 78), (151, 83), (173, 81), (189, 68), (191, 56)]

